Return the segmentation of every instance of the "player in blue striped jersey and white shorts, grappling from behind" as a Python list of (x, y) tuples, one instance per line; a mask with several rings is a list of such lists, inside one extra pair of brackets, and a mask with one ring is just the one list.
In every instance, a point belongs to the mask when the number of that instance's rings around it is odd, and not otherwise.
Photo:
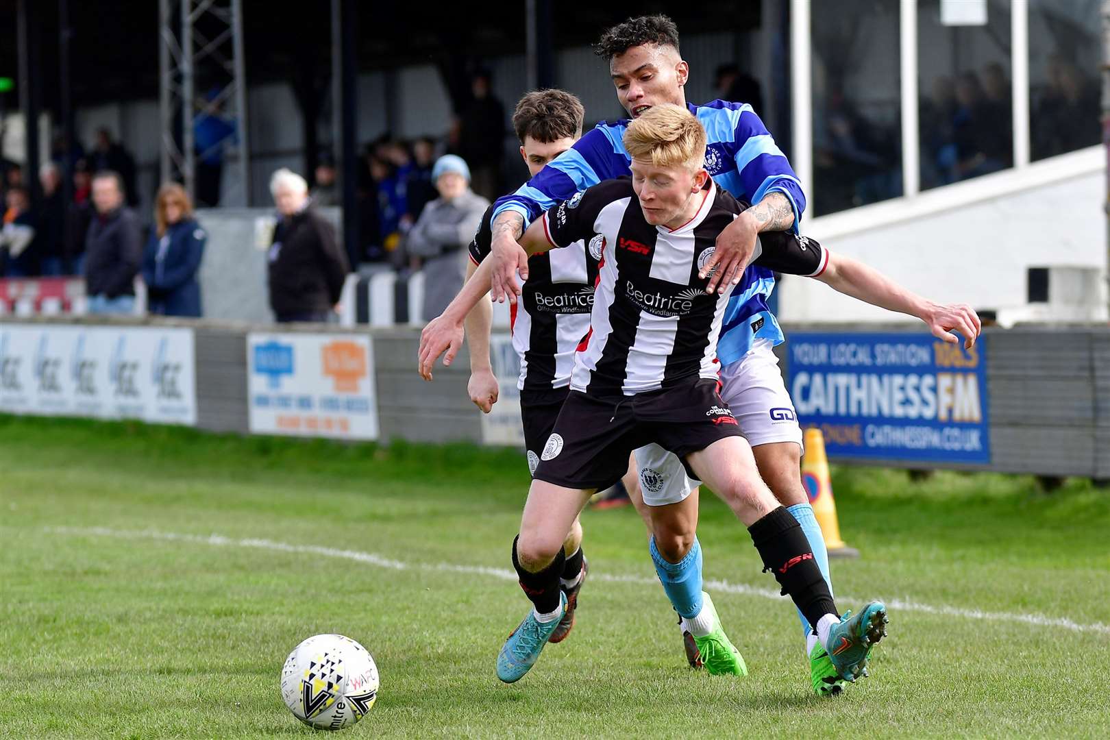
[[(735, 286), (717, 348), (723, 396), (753, 446), (760, 476), (798, 519), (831, 589), (827, 550), (799, 475), (801, 430), (773, 353), (784, 339), (767, 307), (774, 273), (760, 266), (745, 270), (759, 233), (797, 230), (806, 204), (800, 183), (750, 105), (719, 100), (687, 104), (689, 67), (670, 19), (627, 20), (607, 30), (596, 49), (608, 60), (617, 98), (632, 118), (657, 104), (685, 105), (706, 129), (706, 170), (714, 181), (754, 203), (720, 233), (714, 254), (700, 265), (700, 275), (709, 276), (708, 292)], [(516, 300), (517, 271), (527, 278), (527, 259), (516, 240), (533, 219), (602, 180), (629, 174), (630, 158), (623, 144), (627, 123), (599, 124), (514, 194), (497, 201), (492, 227), (492, 253), (498, 261), (492, 275), (495, 300)], [(689, 578), (700, 582), (700, 547), (680, 526), (684, 516), (696, 517), (696, 481), (683, 475), (673, 455), (649, 449), (654, 453), (637, 450), (637, 460), (642, 487), (650, 487), (655, 500), (664, 501), (653, 510), (656, 570), (665, 588)], [(692, 569), (697, 572), (692, 575)], [(835, 676), (828, 656), (801, 621), (815, 690), (838, 691), (839, 683), (826, 680)]]

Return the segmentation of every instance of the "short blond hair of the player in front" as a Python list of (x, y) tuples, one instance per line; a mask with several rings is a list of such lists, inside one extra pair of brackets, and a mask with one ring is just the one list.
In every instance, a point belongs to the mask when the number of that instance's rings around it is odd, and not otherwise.
[(705, 164), (705, 129), (680, 105), (653, 105), (634, 119), (625, 130), (625, 149), (633, 159), (648, 160), (655, 166)]

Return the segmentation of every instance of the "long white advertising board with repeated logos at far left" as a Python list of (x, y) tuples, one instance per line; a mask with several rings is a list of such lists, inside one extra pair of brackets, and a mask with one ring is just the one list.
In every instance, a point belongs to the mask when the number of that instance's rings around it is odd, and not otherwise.
[(0, 324), (0, 412), (196, 424), (193, 332)]

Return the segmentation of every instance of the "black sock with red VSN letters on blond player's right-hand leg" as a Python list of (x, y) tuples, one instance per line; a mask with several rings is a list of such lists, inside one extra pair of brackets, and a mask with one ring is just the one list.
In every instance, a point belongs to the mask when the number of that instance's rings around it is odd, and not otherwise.
[(763, 558), (764, 570), (775, 574), (783, 594), (790, 595), (810, 627), (817, 629), (817, 620), (827, 614), (839, 614), (801, 525), (785, 506), (748, 527), (748, 533)]

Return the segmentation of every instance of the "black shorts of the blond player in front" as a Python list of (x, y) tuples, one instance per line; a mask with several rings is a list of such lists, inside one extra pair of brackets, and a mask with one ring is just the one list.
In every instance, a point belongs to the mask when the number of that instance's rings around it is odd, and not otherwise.
[(565, 488), (603, 489), (628, 470), (628, 455), (648, 443), (670, 450), (686, 465), (690, 453), (739, 436), (716, 381), (693, 378), (663, 391), (604, 401), (572, 391), (533, 477)]

